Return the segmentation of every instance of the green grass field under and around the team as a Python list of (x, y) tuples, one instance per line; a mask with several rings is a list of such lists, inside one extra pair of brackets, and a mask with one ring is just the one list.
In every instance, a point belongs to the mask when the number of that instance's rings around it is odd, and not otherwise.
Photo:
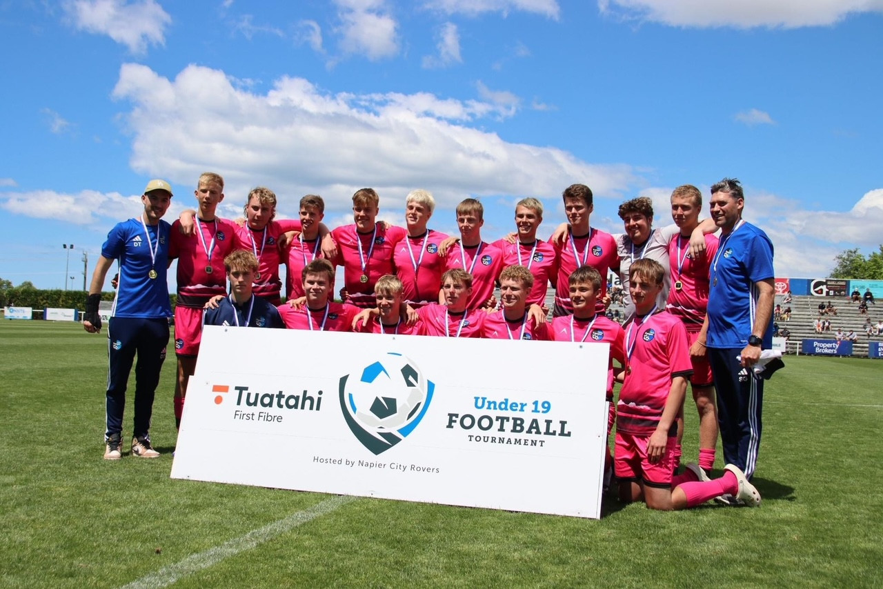
[(883, 362), (786, 363), (766, 385), (759, 509), (605, 499), (594, 521), (171, 480), (173, 357), (162, 457), (102, 460), (106, 338), (3, 321), (0, 586), (883, 586)]

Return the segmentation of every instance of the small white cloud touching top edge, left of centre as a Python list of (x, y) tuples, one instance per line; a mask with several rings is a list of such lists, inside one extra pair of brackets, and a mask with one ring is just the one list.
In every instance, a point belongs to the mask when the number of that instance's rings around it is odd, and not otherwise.
[(363, 54), (371, 61), (398, 53), (398, 23), (379, 0), (336, 0), (341, 11), (340, 49), (345, 54)]

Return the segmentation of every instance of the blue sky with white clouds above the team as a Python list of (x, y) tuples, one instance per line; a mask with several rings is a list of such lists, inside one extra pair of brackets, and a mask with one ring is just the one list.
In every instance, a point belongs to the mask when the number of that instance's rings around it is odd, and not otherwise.
[(883, 0), (0, 0), (0, 50), (15, 284), (63, 288), (73, 244), (81, 288), (148, 179), (174, 187), (171, 221), (206, 170), (226, 216), (266, 185), (280, 215), (318, 193), (349, 223), (373, 186), (403, 223), (426, 188), (431, 227), (475, 196), (488, 239), (524, 196), (547, 237), (574, 182), (615, 232), (625, 199), (667, 224), (675, 186), (738, 177), (778, 276), (883, 242)]

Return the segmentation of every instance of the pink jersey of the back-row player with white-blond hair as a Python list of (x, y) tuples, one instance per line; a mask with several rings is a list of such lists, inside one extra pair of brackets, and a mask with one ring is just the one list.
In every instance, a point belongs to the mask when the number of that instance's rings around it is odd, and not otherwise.
[(448, 236), (427, 230), (419, 238), (406, 237), (396, 244), (393, 264), (396, 276), (404, 284), (402, 297), (412, 307), (439, 302), (445, 259), (439, 255), (439, 244)]

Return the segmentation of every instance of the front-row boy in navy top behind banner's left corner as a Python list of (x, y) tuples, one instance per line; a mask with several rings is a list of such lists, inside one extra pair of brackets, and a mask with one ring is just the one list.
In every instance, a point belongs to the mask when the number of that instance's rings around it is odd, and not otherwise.
[(223, 259), (230, 296), (221, 298), (217, 308), (207, 309), (203, 325), (230, 325), (244, 328), (285, 328), (275, 306), (253, 295), (253, 281), (259, 262), (253, 252), (237, 250)]

